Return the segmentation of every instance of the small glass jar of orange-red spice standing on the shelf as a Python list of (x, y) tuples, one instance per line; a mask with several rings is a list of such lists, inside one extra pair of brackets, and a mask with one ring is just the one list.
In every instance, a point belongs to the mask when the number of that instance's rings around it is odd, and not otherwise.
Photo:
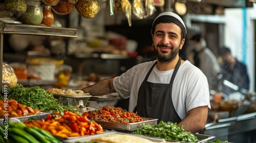
[(50, 5), (42, 5), (42, 22), (44, 25), (50, 27), (52, 26), (54, 17), (52, 13), (52, 6)]

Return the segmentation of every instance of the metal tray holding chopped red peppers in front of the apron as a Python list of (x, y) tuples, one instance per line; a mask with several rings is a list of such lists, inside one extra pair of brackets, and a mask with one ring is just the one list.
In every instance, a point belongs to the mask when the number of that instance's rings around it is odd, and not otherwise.
[(137, 123), (115, 123), (115, 122), (108, 122), (108, 121), (99, 121), (94, 120), (96, 123), (100, 124), (102, 128), (105, 129), (113, 129), (113, 130), (124, 130), (124, 131), (134, 131), (141, 128), (144, 125), (151, 125), (154, 126), (157, 124), (157, 120), (155, 118), (145, 118), (147, 121), (137, 122)]

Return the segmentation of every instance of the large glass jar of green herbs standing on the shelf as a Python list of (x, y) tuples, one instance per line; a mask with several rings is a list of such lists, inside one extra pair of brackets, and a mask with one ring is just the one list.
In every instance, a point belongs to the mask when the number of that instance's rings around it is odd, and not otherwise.
[(26, 12), (21, 12), (18, 18), (25, 25), (40, 25), (43, 18), (42, 7), (39, 1), (27, 0), (27, 10)]

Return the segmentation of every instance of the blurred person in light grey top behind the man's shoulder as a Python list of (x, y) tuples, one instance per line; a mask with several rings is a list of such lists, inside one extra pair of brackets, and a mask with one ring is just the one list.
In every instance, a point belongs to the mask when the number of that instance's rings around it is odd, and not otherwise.
[(207, 48), (206, 41), (201, 34), (190, 38), (190, 51), (192, 51), (191, 54), (194, 54), (194, 65), (201, 69), (207, 77), (209, 89), (218, 90), (221, 66), (214, 53)]

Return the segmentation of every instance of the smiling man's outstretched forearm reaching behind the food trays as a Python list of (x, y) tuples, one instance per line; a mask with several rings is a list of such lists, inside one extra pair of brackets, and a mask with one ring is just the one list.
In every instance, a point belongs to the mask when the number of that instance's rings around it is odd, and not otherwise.
[(92, 96), (103, 96), (115, 91), (111, 82), (113, 82), (113, 79), (103, 79), (94, 85), (83, 88), (82, 90), (90, 93)]

